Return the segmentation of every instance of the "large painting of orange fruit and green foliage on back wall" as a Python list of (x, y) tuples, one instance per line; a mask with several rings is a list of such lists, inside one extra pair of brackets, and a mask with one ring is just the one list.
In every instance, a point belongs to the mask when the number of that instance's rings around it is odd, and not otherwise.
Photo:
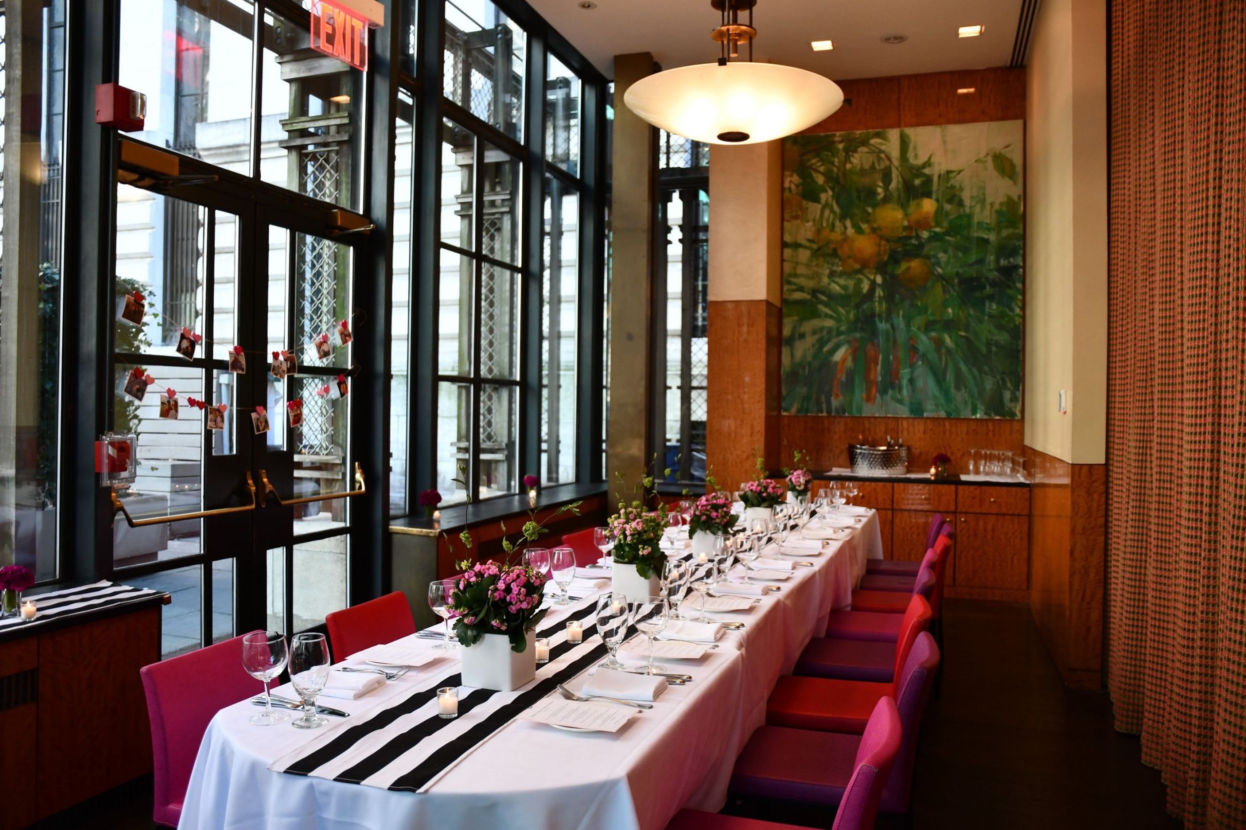
[(784, 411), (1019, 418), (1020, 121), (784, 141)]

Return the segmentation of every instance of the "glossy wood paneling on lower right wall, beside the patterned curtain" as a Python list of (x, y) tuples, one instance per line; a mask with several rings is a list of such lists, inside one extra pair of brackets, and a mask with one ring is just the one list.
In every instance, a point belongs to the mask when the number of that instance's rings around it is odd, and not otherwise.
[(1032, 447), (1029, 606), (1069, 686), (1103, 686), (1106, 465)]

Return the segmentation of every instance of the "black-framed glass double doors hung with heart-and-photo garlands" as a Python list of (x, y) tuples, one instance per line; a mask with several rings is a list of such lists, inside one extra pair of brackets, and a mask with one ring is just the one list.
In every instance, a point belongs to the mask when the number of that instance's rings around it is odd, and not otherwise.
[(164, 657), (348, 605), (361, 238), (280, 208), (117, 184), (111, 426), (138, 470), (116, 492), (112, 577), (172, 595)]

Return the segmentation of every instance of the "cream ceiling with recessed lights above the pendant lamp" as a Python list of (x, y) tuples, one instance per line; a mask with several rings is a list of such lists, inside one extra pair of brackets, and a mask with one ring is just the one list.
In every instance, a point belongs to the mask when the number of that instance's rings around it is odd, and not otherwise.
[[(528, 0), (606, 77), (614, 56), (652, 52), (663, 68), (710, 63), (719, 12), (709, 0)], [(754, 60), (799, 66), (832, 80), (1007, 66), (1023, 0), (758, 0)], [(957, 27), (982, 24), (978, 37)], [(883, 35), (907, 35), (883, 44)], [(815, 52), (811, 40), (835, 49)]]

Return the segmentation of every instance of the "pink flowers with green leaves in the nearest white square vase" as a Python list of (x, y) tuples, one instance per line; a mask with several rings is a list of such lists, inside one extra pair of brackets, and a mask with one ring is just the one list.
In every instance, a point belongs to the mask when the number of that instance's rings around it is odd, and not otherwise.
[(465, 647), (487, 633), (506, 635), (511, 651), (527, 648), (527, 632), (545, 616), (541, 592), (545, 575), (535, 567), (476, 562), (455, 586), (447, 607), (455, 633)]

